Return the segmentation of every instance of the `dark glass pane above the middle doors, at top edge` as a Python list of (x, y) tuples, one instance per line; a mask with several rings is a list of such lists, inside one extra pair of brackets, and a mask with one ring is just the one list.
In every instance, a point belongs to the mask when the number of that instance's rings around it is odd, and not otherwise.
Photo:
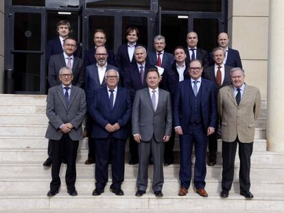
[(86, 8), (150, 10), (151, 0), (86, 0)]

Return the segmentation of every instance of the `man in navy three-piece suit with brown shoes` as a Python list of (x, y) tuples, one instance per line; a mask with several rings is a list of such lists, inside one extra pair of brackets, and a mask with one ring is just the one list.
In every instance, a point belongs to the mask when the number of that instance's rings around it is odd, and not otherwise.
[(180, 82), (174, 101), (174, 126), (180, 136), (180, 191), (187, 195), (191, 182), (191, 153), (194, 145), (196, 162), (194, 185), (196, 192), (207, 197), (205, 187), (206, 147), (208, 136), (217, 123), (215, 85), (201, 77), (202, 63), (192, 60), (189, 64), (191, 79)]

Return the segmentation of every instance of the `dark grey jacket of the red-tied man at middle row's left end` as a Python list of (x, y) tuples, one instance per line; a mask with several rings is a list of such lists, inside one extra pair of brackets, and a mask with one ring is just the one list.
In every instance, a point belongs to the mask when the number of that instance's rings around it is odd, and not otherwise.
[[(48, 66), (48, 82), (49, 86), (53, 87), (61, 84), (59, 79), (59, 71), (63, 66), (67, 66), (63, 53), (57, 55), (51, 55)], [(75, 86), (82, 86), (84, 82), (84, 67), (83, 60), (74, 55), (74, 61), (72, 66), (73, 81)]]

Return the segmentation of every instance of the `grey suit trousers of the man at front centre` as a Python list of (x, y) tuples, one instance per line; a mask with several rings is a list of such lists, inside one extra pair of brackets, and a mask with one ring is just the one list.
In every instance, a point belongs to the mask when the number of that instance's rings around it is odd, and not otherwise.
[(139, 168), (137, 175), (137, 190), (145, 191), (148, 185), (148, 165), (150, 153), (153, 156), (154, 175), (152, 189), (161, 191), (164, 183), (163, 174), (163, 156), (165, 151), (164, 142), (156, 142), (154, 138), (150, 141), (141, 141), (138, 143)]

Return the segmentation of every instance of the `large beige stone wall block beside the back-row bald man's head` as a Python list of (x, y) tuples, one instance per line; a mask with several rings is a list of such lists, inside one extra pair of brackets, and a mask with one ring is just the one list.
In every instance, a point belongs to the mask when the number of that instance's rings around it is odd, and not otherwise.
[(234, 17), (231, 43), (242, 60), (267, 60), (268, 17)]

